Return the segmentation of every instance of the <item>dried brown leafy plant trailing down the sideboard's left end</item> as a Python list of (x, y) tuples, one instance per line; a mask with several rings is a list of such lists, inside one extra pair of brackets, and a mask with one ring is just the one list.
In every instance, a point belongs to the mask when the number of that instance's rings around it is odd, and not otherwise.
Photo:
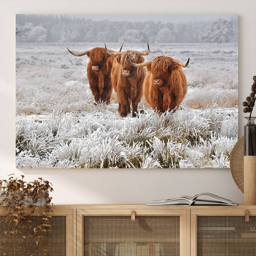
[(1, 255), (49, 256), (52, 183), (43, 178), (26, 182), (24, 175), (13, 175), (0, 180), (0, 206), (4, 213), (0, 217), (4, 229), (0, 234), (4, 238), (0, 240)]

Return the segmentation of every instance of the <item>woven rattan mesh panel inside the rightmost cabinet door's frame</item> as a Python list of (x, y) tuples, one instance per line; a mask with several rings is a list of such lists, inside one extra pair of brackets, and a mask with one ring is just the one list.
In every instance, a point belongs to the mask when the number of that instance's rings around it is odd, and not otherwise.
[(256, 216), (198, 216), (197, 256), (256, 255)]

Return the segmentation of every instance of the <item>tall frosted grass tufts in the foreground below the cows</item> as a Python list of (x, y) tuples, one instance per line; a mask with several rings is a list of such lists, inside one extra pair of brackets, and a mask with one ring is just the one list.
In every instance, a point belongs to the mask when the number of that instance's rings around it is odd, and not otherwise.
[(221, 168), (229, 166), (237, 141), (230, 134), (238, 128), (235, 109), (184, 109), (161, 116), (146, 110), (139, 118), (120, 118), (102, 105), (90, 114), (39, 117), (17, 122), (17, 167)]

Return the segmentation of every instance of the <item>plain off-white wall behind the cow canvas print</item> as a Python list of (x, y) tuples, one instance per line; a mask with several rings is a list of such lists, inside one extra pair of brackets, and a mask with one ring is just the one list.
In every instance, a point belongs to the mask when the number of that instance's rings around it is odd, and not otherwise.
[(53, 203), (147, 203), (182, 194), (213, 192), (243, 203), (230, 170), (75, 170), (15, 168), (15, 14), (170, 13), (239, 15), (239, 136), (242, 101), (256, 75), (256, 0), (51, 1), (0, 0), (0, 179), (24, 174), (53, 183)]

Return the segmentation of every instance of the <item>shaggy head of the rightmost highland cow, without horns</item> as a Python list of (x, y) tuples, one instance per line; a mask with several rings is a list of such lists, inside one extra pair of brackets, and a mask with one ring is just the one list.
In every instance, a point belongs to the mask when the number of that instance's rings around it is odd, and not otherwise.
[(172, 64), (172, 60), (170, 57), (158, 56), (146, 65), (148, 72), (153, 75), (154, 86), (162, 87), (168, 84), (172, 70), (178, 67), (176, 64)]

